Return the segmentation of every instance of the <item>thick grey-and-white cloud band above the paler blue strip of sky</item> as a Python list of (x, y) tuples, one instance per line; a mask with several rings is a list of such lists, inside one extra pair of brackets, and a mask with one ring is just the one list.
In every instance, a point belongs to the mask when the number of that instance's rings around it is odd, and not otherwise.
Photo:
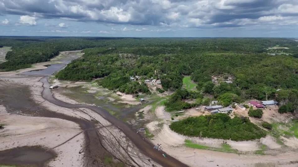
[(131, 25), (237, 27), (264, 21), (274, 23), (276, 19), (280, 22), (293, 19), (289, 16), (298, 15), (298, 2), (296, 0), (0, 0), (0, 14)]

